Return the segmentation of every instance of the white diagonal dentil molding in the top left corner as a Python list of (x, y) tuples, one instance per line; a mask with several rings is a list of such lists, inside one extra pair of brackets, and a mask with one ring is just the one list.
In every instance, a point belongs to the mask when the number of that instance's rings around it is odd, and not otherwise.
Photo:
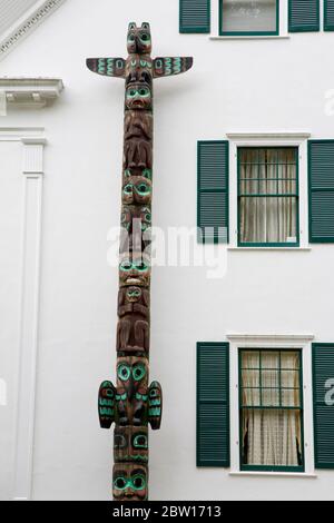
[(58, 9), (65, 0), (38, 0), (23, 17), (9, 28), (0, 40), (0, 60), (30, 34), (47, 17)]

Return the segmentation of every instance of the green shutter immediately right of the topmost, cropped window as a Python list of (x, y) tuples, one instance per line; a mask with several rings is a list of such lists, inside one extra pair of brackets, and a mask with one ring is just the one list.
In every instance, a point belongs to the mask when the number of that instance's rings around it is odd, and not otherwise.
[(288, 30), (320, 31), (320, 0), (288, 0)]

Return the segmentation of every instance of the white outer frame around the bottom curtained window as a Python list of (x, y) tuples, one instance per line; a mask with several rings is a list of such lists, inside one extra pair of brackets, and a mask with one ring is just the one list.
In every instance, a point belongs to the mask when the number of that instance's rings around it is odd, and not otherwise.
[[(317, 477), (314, 472), (312, 342), (313, 335), (229, 334), (229, 405), (230, 405), (230, 475)], [(304, 458), (305, 472), (240, 471), (239, 460), (239, 348), (302, 349), (304, 395)]]

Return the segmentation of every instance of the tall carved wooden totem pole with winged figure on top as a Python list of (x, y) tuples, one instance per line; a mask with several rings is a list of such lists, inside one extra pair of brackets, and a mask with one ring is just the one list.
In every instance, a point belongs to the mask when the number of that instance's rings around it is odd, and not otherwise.
[(158, 430), (163, 393), (148, 386), (150, 326), (150, 227), (153, 191), (153, 80), (190, 69), (193, 58), (151, 59), (149, 23), (128, 28), (128, 58), (91, 58), (98, 75), (124, 78), (125, 140), (121, 191), (117, 385), (104, 382), (98, 408), (102, 428), (115, 422), (112, 494), (148, 499), (148, 424)]

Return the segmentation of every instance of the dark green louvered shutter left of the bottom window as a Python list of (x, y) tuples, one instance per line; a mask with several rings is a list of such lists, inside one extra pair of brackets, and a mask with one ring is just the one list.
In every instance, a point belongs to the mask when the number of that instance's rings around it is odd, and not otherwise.
[(229, 466), (229, 345), (197, 344), (197, 466)]

